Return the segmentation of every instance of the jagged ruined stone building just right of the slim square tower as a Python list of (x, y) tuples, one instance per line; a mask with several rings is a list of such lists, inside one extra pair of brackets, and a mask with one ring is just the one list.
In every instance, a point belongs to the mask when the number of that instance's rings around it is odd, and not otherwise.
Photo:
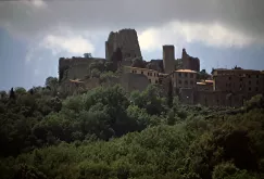
[(181, 53), (183, 69), (191, 69), (200, 72), (200, 60), (198, 57), (190, 56), (186, 49), (183, 49)]

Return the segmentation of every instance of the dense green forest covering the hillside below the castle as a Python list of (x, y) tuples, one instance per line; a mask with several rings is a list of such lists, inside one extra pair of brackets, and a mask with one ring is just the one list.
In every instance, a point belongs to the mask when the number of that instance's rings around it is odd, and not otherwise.
[(261, 179), (264, 98), (183, 105), (156, 86), (0, 93), (1, 179)]

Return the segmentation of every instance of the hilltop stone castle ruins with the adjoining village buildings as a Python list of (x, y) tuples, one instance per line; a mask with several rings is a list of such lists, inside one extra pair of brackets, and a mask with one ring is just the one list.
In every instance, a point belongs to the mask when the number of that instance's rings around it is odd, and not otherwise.
[[(90, 66), (111, 63), (118, 77), (102, 82), (91, 76)], [(156, 84), (164, 92), (169, 88), (186, 104), (241, 106), (244, 100), (264, 94), (264, 72), (253, 69), (216, 68), (201, 78), (200, 60), (183, 49), (181, 59), (175, 59), (174, 46), (163, 46), (163, 59), (144, 61), (137, 31), (111, 31), (105, 41), (105, 59), (73, 56), (59, 60), (59, 80), (66, 91), (78, 88), (89, 90), (98, 86), (120, 84), (127, 92), (142, 91), (149, 84)]]

